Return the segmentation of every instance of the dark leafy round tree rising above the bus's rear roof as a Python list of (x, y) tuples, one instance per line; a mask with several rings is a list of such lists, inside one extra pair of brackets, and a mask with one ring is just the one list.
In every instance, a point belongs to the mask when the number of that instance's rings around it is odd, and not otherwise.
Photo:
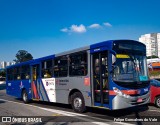
[(13, 61), (15, 61), (16, 63), (21, 63), (33, 59), (33, 56), (26, 50), (19, 50), (15, 57), (16, 59), (14, 59)]

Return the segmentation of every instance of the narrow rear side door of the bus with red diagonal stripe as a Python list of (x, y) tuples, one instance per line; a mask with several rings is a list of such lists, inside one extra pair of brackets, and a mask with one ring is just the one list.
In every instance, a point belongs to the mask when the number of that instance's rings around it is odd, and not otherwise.
[(40, 65), (39, 64), (35, 64), (32, 65), (32, 98), (33, 99), (39, 99), (39, 82), (38, 82), (38, 78), (40, 76)]

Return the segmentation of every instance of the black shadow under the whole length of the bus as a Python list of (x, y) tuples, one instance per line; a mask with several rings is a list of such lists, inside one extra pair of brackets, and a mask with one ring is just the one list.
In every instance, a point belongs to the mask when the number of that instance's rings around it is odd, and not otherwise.
[[(22, 99), (17, 98), (17, 100), (22, 100)], [(31, 101), (30, 103), (32, 105), (37, 105), (41, 107), (46, 107), (51, 109), (60, 109), (60, 110), (64, 109), (65, 111), (74, 112), (72, 110), (71, 105), (68, 105), (68, 104), (52, 103), (52, 102), (45, 102), (45, 101)], [(135, 116), (137, 116), (137, 113), (145, 112), (148, 109), (149, 109), (148, 105), (136, 106), (136, 107), (120, 109), (120, 110), (108, 110), (108, 109), (87, 107), (87, 111), (84, 114), (91, 114), (92, 116), (103, 115), (103, 116), (110, 116), (113, 118), (113, 117), (124, 117), (131, 114), (132, 115), (135, 114)]]

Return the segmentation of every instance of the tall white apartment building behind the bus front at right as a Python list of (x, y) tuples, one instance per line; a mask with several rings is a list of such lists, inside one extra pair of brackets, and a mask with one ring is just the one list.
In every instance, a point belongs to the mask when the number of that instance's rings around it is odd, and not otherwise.
[(147, 56), (160, 57), (160, 33), (144, 34), (139, 41), (146, 45)]

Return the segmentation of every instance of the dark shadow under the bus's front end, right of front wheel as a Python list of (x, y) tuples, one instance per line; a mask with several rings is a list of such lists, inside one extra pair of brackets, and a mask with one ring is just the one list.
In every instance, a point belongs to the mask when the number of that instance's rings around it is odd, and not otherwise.
[[(145, 112), (149, 109), (148, 105), (136, 106), (127, 109), (120, 110), (105, 110), (105, 109), (95, 109), (88, 108), (88, 112), (92, 113), (92, 116), (99, 117), (103, 119), (109, 119), (112, 121), (116, 121), (122, 119), (124, 122), (133, 123), (137, 125), (142, 125), (142, 121), (134, 121), (136, 119), (144, 119), (145, 116), (140, 115), (141, 112)], [(116, 119), (116, 120), (115, 120)], [(133, 121), (128, 122), (126, 119), (133, 119)]]

